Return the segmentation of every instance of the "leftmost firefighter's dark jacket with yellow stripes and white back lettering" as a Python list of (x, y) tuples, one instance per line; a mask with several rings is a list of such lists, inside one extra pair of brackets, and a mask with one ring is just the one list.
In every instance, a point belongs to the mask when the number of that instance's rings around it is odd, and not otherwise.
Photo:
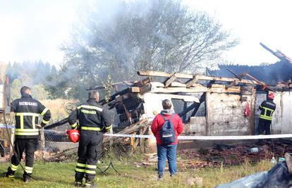
[(16, 117), (16, 139), (38, 138), (39, 129), (36, 124), (39, 122), (39, 116), (43, 116), (42, 126), (47, 125), (51, 118), (49, 109), (28, 94), (14, 100), (11, 103), (11, 111)]

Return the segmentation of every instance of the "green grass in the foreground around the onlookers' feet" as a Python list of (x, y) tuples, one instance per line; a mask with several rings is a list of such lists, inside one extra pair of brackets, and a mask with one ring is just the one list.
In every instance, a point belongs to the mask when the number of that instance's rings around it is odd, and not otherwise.
[[(142, 162), (142, 161), (140, 161)], [(137, 163), (130, 161), (117, 161), (114, 165), (120, 175), (113, 169), (107, 171), (108, 175), (97, 175), (99, 187), (215, 187), (218, 184), (238, 180), (253, 173), (269, 170), (272, 164), (269, 161), (260, 161), (251, 164), (248, 161), (242, 165), (228, 168), (190, 169), (178, 172), (176, 177), (169, 177), (166, 173), (164, 180), (157, 181), (156, 165), (137, 167)], [(0, 172), (5, 172), (8, 163), (0, 163)], [(107, 163), (99, 165), (105, 169)], [(27, 184), (22, 182), (22, 170), (18, 170), (16, 178), (1, 177), (0, 187), (73, 187), (75, 163), (35, 163), (34, 175), (41, 180), (32, 180)], [(179, 170), (179, 166), (178, 166)], [(202, 180), (190, 185), (188, 181)], [(192, 182), (192, 181), (190, 181)]]

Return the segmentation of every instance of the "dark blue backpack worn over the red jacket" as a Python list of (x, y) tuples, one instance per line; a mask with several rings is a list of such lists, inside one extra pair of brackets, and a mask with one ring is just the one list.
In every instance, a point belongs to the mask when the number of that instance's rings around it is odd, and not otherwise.
[[(162, 113), (160, 113), (162, 115)], [(162, 139), (162, 143), (164, 145), (169, 145), (171, 143), (174, 143), (176, 141), (176, 133), (174, 132), (174, 124), (171, 122), (171, 119), (174, 118), (175, 113), (171, 115), (169, 120), (165, 118), (164, 115), (162, 115), (162, 118), (164, 118), (164, 124), (162, 125), (162, 128), (159, 130), (160, 137)]]

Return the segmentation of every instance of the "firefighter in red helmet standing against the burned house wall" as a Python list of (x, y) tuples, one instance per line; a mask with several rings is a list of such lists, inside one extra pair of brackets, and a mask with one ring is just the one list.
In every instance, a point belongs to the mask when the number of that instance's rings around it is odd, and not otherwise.
[(271, 134), (271, 123), (273, 113), (276, 109), (276, 104), (274, 104), (274, 92), (271, 92), (267, 96), (267, 100), (263, 101), (260, 105), (260, 120), (257, 127), (258, 134)]

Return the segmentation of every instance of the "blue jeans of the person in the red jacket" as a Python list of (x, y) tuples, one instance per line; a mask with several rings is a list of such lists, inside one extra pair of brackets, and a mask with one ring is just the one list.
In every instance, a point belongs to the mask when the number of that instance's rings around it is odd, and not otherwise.
[(164, 174), (166, 157), (169, 162), (169, 173), (171, 173), (171, 175), (176, 174), (176, 147), (177, 144), (167, 146), (157, 145), (159, 175), (162, 176)]

